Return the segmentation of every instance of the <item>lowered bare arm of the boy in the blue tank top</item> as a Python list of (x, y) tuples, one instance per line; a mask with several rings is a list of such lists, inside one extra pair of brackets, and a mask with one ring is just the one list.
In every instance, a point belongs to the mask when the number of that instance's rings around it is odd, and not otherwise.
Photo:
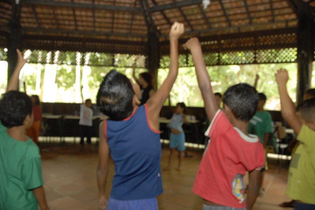
[(99, 190), (99, 208), (106, 209), (107, 199), (105, 197), (106, 179), (108, 174), (109, 148), (104, 132), (104, 121), (100, 123), (100, 145), (99, 145), (99, 163), (97, 166), (97, 184)]

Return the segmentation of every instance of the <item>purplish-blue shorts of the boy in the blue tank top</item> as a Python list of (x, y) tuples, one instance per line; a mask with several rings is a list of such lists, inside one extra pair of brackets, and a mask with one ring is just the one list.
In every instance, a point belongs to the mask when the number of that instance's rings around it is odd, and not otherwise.
[(106, 205), (106, 210), (157, 210), (157, 198), (119, 201), (109, 198)]

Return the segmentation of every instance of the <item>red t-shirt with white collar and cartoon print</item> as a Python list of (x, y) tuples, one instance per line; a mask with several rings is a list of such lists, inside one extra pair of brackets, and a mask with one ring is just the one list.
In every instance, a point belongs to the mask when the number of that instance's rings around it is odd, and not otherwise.
[(210, 137), (192, 191), (203, 199), (234, 208), (245, 208), (243, 176), (265, 164), (256, 135), (246, 136), (218, 110), (205, 135)]

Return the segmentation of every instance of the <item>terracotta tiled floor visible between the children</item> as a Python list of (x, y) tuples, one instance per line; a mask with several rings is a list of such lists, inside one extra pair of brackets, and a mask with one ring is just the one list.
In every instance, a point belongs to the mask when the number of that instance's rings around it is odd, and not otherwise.
[[(162, 195), (157, 197), (160, 210), (202, 209), (202, 199), (192, 193), (192, 185), (198, 170), (202, 153), (188, 151), (193, 157), (184, 158), (182, 171), (174, 169), (162, 172)], [(161, 167), (167, 165), (169, 151), (162, 150)], [(95, 145), (50, 143), (41, 146), (42, 170), (46, 198), (51, 210), (95, 210), (98, 209), (96, 183), (97, 148)], [(287, 182), (287, 169), (278, 173), (275, 164), (269, 164), (266, 172), (264, 196), (255, 203), (255, 210), (291, 210), (278, 204), (288, 201), (284, 195)], [(107, 179), (107, 195), (111, 188), (114, 165), (110, 162)], [(245, 179), (246, 181), (246, 179)]]

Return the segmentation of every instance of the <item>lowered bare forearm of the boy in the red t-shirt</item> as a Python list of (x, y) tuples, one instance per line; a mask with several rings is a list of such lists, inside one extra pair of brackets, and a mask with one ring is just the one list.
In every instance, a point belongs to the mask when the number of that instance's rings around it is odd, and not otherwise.
[(261, 181), (261, 171), (252, 170), (249, 172), (248, 193), (246, 198), (246, 208), (251, 210), (255, 204), (259, 193), (259, 186)]

